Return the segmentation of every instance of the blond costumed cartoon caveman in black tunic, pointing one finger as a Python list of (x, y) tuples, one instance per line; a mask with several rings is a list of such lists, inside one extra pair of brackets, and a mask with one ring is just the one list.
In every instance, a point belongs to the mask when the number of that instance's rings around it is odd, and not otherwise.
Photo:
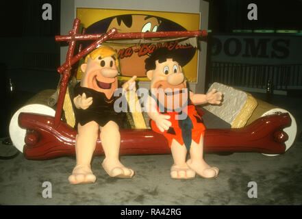
[[(114, 112), (114, 90), (118, 87), (118, 57), (110, 48), (101, 46), (86, 56), (81, 64), (84, 75), (75, 86), (75, 118), (78, 134), (75, 142), (77, 164), (68, 178), (71, 184), (94, 183), (90, 162), (99, 138), (105, 153), (102, 166), (110, 177), (131, 178), (134, 170), (126, 168), (118, 159), (121, 136), (118, 113)], [(136, 76), (123, 84), (124, 89)]]

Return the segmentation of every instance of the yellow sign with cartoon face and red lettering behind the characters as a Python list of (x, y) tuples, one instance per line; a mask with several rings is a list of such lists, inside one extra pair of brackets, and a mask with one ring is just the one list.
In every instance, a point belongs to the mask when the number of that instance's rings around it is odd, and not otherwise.
[[(86, 28), (86, 34), (100, 34), (115, 27), (118, 33), (147, 31), (196, 31), (200, 29), (200, 14), (177, 12), (149, 12), (131, 10), (108, 10), (77, 8), (79, 18)], [(91, 42), (84, 42), (84, 48)], [(114, 40), (105, 42), (118, 53), (121, 76), (119, 79), (129, 79), (136, 75), (139, 81), (148, 81), (144, 60), (160, 47), (167, 47), (181, 54), (184, 59), (182, 66), (189, 82), (197, 81), (198, 50), (184, 39), (157, 39), (157, 41), (142, 42), (138, 39)], [(81, 62), (84, 62), (81, 60)], [(80, 62), (80, 64), (81, 64)], [(78, 69), (77, 79), (81, 79), (81, 69)]]

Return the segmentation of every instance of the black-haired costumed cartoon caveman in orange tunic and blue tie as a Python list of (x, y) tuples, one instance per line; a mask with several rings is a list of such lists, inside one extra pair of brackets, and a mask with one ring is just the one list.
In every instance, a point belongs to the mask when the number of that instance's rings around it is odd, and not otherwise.
[[(217, 177), (218, 168), (203, 159), (205, 126), (194, 105), (220, 104), (222, 93), (212, 90), (208, 94), (194, 94), (186, 88), (181, 71), (181, 56), (162, 47), (145, 60), (151, 92), (146, 107), (153, 131), (162, 133), (171, 147), (174, 164), (171, 178), (192, 179)], [(190, 159), (186, 162), (187, 151)]]

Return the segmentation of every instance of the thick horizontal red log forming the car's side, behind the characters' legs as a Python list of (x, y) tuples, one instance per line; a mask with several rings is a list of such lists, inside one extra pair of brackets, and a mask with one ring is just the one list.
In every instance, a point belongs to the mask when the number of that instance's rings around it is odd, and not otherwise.
[[(289, 114), (264, 116), (241, 129), (206, 129), (205, 152), (260, 152), (279, 154), (286, 151), (288, 135), (282, 131), (290, 126)], [(50, 159), (75, 155), (77, 131), (60, 121), (55, 127), (51, 116), (21, 113), (20, 127), (27, 129), (23, 153), (27, 159)], [(151, 129), (122, 129), (121, 155), (171, 153), (164, 136)], [(95, 155), (103, 155), (101, 141), (97, 140)]]

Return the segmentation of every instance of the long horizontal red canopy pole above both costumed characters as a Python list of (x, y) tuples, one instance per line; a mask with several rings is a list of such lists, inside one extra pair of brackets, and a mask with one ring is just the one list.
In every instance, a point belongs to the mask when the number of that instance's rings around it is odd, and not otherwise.
[[(103, 34), (79, 34), (74, 36), (75, 40), (96, 40)], [(160, 31), (160, 32), (137, 32), (137, 33), (117, 33), (112, 36), (112, 40), (123, 39), (145, 39), (145, 38), (175, 38), (175, 37), (203, 37), (207, 36), (206, 30), (198, 31)], [(55, 41), (69, 41), (71, 36), (55, 36)]]

